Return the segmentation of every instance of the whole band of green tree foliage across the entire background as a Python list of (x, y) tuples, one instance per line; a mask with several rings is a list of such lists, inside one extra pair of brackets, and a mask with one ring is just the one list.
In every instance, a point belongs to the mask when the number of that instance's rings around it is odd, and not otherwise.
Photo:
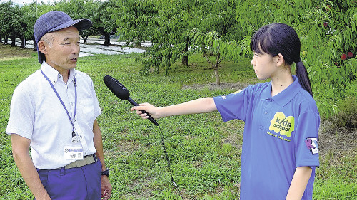
[[(21, 8), (9, 1), (0, 4), (1, 38), (6, 38), (4, 42), (7, 38), (33, 39), (34, 21), (54, 9), (94, 22), (91, 29), (81, 32), (84, 40), (90, 34), (101, 34), (109, 44), (109, 36), (117, 33), (127, 46), (150, 41), (152, 46), (140, 58), (146, 74), (152, 70), (169, 73), (177, 59), (188, 66), (188, 56), (195, 51), (212, 51), (219, 56), (218, 63), (221, 58), (251, 58), (253, 33), (268, 23), (286, 23), (301, 38), (301, 58), (314, 96), (328, 115), (336, 107), (321, 88), (331, 87), (343, 98), (346, 85), (357, 76), (355, 0), (62, 0)], [(191, 34), (192, 30), (200, 33)], [(218, 65), (213, 68), (218, 70)]]

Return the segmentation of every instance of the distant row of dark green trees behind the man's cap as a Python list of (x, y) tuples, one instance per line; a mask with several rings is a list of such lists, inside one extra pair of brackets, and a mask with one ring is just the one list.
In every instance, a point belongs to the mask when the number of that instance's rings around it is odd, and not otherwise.
[(24, 48), (26, 41), (34, 41), (33, 30), (36, 19), (41, 14), (58, 10), (69, 14), (72, 19), (91, 19), (93, 26), (89, 30), (80, 32), (84, 43), (90, 35), (103, 35), (104, 45), (109, 45), (109, 38), (116, 33), (118, 26), (106, 9), (114, 8), (114, 6), (114, 1), (99, 0), (63, 0), (55, 1), (53, 4), (41, 2), (37, 5), (34, 1), (21, 7), (14, 5), (11, 1), (3, 2), (0, 4), (0, 42), (16, 46), (15, 39), (19, 38), (20, 48)]

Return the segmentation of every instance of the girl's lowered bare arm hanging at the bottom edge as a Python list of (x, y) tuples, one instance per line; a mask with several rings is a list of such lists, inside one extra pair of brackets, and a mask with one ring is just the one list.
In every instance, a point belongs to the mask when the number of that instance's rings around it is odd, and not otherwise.
[(311, 167), (303, 166), (296, 168), (286, 200), (301, 200), (303, 192), (306, 189), (306, 185), (308, 184), (308, 179), (311, 177), (311, 173)]

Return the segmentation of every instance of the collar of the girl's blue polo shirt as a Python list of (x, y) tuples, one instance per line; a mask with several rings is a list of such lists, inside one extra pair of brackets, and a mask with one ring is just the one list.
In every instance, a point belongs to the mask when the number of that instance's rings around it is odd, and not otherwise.
[(298, 83), (298, 78), (296, 75), (293, 75), (293, 83), (285, 88), (285, 90), (271, 97), (271, 82), (268, 83), (268, 87), (266, 87), (261, 93), (261, 100), (272, 99), (274, 102), (278, 103), (281, 107), (285, 106), (290, 102), (298, 91), (301, 90), (301, 85)]

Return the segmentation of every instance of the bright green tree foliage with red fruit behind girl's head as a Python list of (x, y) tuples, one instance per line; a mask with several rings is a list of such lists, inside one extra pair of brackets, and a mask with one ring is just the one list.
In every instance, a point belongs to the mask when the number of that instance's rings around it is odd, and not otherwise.
[[(229, 43), (223, 55), (233, 60), (239, 56), (250, 57), (250, 38), (258, 28), (273, 22), (292, 26), (301, 38), (301, 58), (319, 110), (326, 116), (336, 112), (336, 106), (326, 101), (321, 88), (331, 87), (336, 95), (343, 97), (346, 85), (356, 80), (356, 1), (241, 0), (239, 4), (236, 26), (240, 38)], [(213, 48), (217, 46), (218, 43)], [(346, 56), (348, 53), (351, 58)]]

